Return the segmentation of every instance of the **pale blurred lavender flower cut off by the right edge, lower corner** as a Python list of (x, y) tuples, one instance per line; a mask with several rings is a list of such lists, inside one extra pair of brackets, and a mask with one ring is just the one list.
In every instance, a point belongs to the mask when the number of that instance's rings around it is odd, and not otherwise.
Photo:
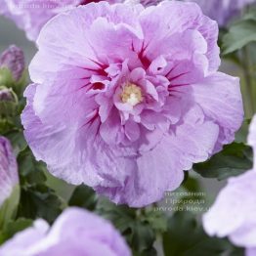
[[(250, 126), (248, 143), (256, 150), (256, 116)], [(256, 255), (256, 165), (253, 170), (231, 178), (215, 203), (203, 217), (208, 235), (229, 236), (238, 246), (246, 247), (246, 256)]]

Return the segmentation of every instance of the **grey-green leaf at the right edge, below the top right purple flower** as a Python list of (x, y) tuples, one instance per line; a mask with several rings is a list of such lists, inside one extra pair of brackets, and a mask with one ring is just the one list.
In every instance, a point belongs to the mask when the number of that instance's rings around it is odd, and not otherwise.
[(245, 45), (256, 41), (256, 12), (244, 16), (240, 21), (236, 21), (223, 36), (223, 54), (233, 53)]

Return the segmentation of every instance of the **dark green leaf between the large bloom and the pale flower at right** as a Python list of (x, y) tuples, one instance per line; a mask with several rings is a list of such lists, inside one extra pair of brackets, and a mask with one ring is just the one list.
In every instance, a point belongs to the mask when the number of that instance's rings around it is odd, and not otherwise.
[(224, 180), (252, 168), (252, 149), (242, 143), (227, 145), (203, 163), (193, 164), (192, 169), (204, 178)]

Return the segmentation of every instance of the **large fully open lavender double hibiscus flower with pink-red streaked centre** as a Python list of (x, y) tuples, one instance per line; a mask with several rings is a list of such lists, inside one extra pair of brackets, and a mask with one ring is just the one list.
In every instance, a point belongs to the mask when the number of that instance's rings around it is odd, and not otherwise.
[(116, 203), (175, 190), (242, 121), (238, 79), (217, 72), (217, 37), (216, 21), (176, 1), (101, 2), (48, 22), (21, 116), (36, 158)]

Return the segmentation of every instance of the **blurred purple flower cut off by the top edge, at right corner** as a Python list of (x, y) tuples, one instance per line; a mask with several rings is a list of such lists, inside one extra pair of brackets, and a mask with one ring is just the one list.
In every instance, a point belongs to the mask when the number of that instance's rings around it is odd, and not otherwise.
[(248, 4), (255, 0), (185, 0), (197, 3), (203, 13), (224, 26)]

